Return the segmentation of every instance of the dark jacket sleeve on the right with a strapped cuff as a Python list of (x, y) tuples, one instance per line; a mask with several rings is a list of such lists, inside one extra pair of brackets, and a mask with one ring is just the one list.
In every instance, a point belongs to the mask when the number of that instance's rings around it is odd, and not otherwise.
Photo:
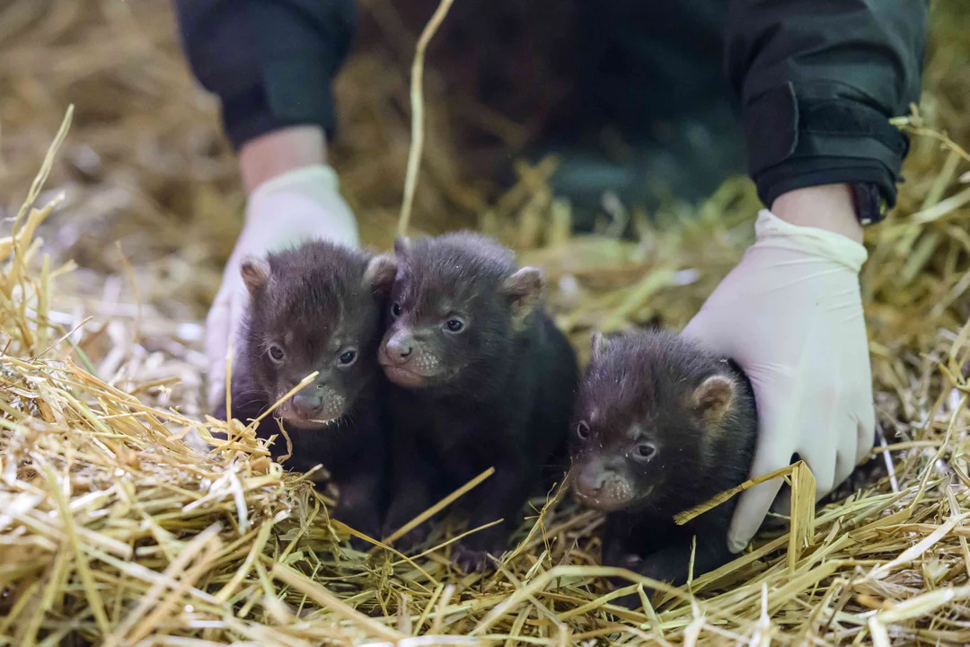
[(732, 0), (727, 76), (766, 206), (843, 182), (895, 204), (909, 143), (889, 117), (919, 101), (927, 12), (927, 0)]

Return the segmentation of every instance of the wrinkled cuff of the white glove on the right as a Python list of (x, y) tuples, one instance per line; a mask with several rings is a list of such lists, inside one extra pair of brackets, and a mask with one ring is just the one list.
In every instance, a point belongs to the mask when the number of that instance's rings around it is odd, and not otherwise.
[(818, 227), (802, 227), (760, 210), (755, 223), (756, 246), (775, 246), (818, 256), (858, 273), (869, 257), (865, 246), (842, 234)]

